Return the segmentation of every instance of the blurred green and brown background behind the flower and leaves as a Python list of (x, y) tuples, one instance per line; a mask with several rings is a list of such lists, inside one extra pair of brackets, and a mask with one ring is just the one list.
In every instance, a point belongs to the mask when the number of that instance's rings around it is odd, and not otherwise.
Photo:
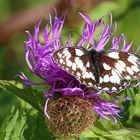
[[(83, 25), (79, 11), (88, 13), (93, 20), (112, 12), (118, 27), (116, 35), (123, 33), (128, 42), (134, 41), (134, 48), (140, 44), (140, 0), (0, 0), (0, 79), (13, 80), (21, 71), (35, 79), (25, 62), (25, 31), (33, 33), (40, 20), (47, 21), (47, 16), (53, 11), (52, 5), (59, 15), (67, 11), (65, 26), (78, 33)], [(62, 38), (66, 39), (68, 32), (64, 30)], [(16, 97), (3, 90), (0, 93), (1, 125)], [(139, 108), (140, 99), (133, 108), (136, 111), (129, 123), (131, 127), (140, 128)]]

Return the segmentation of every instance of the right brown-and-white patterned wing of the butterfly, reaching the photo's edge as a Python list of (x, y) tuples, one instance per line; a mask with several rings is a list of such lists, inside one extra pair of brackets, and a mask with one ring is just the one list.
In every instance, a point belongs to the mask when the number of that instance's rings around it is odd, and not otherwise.
[(98, 89), (118, 92), (132, 80), (140, 80), (140, 57), (127, 52), (108, 51), (99, 55), (100, 85)]

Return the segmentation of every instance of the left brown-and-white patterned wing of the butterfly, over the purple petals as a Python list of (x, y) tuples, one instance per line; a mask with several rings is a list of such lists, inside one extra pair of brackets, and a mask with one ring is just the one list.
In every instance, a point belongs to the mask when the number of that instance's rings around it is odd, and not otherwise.
[(81, 83), (89, 87), (95, 86), (94, 69), (91, 67), (86, 49), (74, 47), (62, 48), (54, 53), (53, 59), (62, 69), (74, 75)]

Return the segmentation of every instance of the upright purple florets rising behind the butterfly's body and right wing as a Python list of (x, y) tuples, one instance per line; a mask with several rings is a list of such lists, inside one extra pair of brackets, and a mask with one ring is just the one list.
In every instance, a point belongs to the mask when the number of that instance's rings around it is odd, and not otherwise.
[[(87, 47), (89, 47), (90, 44), (93, 43), (94, 49), (96, 51), (102, 50), (105, 45), (110, 40), (110, 37), (114, 34), (114, 32), (117, 29), (117, 25), (115, 23), (114, 31), (111, 30), (112, 28), (112, 14), (110, 14), (110, 24), (105, 25), (105, 23), (102, 21), (102, 18), (98, 21), (94, 21), (94, 23), (91, 22), (90, 17), (88, 15), (83, 15), (80, 13), (80, 15), (85, 20), (85, 25), (83, 28), (83, 33), (81, 36), (81, 39), (78, 43), (78, 46), (84, 46), (85, 43), (88, 42)], [(96, 29), (102, 24), (102, 30), (99, 34), (98, 41), (96, 41), (95, 38), (95, 31)], [(110, 49), (112, 50), (118, 50), (119, 49), (119, 43), (123, 40), (123, 47), (121, 51), (127, 52), (129, 51), (130, 47), (132, 46), (133, 42), (130, 44), (127, 43), (127, 40), (123, 34), (120, 34), (117, 38), (112, 39), (112, 47)]]

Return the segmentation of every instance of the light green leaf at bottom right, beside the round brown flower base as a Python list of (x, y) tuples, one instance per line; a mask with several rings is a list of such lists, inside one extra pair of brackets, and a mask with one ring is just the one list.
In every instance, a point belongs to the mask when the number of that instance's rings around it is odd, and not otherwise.
[(92, 129), (79, 138), (87, 139), (105, 139), (105, 140), (132, 140), (140, 139), (140, 130), (134, 128), (124, 128), (120, 122), (113, 124), (111, 121), (103, 119), (97, 120)]

